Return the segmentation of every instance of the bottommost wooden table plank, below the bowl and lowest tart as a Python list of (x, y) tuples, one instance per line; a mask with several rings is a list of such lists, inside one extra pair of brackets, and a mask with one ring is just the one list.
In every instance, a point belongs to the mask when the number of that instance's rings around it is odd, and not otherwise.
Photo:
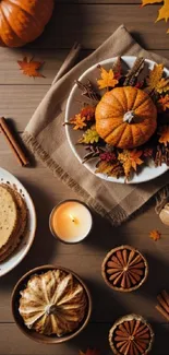
[[(80, 350), (86, 352), (87, 348), (98, 348), (101, 354), (112, 354), (108, 334), (114, 321), (112, 310), (112, 321), (110, 323), (89, 323), (83, 332), (68, 343), (61, 345), (43, 345), (26, 338), (15, 324), (0, 324), (0, 354), (1, 355), (79, 355)], [(169, 326), (157, 327), (153, 324), (156, 332), (153, 346), (154, 355), (168, 355), (168, 331)]]

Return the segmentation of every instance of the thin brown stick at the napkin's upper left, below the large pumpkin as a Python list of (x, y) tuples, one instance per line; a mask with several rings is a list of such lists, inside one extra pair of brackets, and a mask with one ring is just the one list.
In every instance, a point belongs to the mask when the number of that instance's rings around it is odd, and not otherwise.
[(59, 69), (52, 84), (55, 84), (61, 76), (63, 76), (73, 67), (80, 54), (80, 50), (81, 50), (81, 45), (79, 43), (74, 43), (65, 60), (63, 61), (61, 68)]

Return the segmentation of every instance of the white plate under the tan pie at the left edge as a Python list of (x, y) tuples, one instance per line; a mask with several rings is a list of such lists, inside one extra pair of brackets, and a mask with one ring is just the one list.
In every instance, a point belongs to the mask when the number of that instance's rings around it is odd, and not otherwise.
[(7, 260), (0, 262), (0, 276), (14, 269), (24, 259), (33, 244), (36, 230), (36, 212), (27, 190), (12, 174), (0, 167), (0, 184), (1, 182), (8, 182), (11, 186), (14, 185), (17, 191), (24, 197), (28, 211), (28, 224), (27, 232), (24, 234), (21, 244)]

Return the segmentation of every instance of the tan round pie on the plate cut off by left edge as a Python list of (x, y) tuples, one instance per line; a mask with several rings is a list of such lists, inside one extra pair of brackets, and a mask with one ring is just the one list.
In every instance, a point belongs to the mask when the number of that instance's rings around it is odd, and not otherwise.
[(24, 198), (10, 185), (0, 185), (0, 262), (17, 247), (27, 224)]

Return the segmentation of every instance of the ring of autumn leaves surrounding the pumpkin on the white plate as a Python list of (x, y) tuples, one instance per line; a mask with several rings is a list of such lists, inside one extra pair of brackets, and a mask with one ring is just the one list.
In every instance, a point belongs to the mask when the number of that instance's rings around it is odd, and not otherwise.
[[(76, 82), (87, 104), (65, 125), (73, 130), (82, 131), (76, 144), (86, 149), (83, 163), (95, 159), (96, 174), (109, 177), (124, 177), (125, 181), (138, 174), (145, 165), (162, 163), (169, 166), (169, 78), (166, 78), (164, 64), (155, 64), (148, 71), (143, 58), (137, 58), (126, 72), (122, 70), (122, 59), (118, 58), (109, 69), (96, 68), (96, 85)], [(146, 74), (143, 75), (143, 72)], [(99, 79), (100, 75), (100, 79)], [(144, 145), (134, 150), (121, 150), (107, 144), (97, 133), (95, 126), (95, 108), (105, 92), (118, 86), (141, 87), (148, 93), (157, 107), (157, 130)], [(89, 102), (89, 104), (88, 104)]]

